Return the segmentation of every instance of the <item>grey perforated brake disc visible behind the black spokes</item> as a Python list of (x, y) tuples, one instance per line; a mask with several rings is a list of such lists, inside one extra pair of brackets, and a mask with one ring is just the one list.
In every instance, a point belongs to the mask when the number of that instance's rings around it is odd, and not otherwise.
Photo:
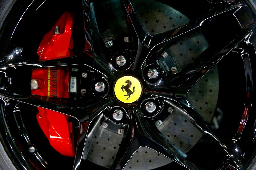
[[(120, 9), (120, 4), (119, 6), (117, 4), (119, 3), (108, 2), (105, 9), (107, 11), (108, 8)], [(189, 19), (179, 11), (157, 1), (134, 1), (134, 5), (141, 22), (144, 23), (146, 29), (151, 34), (162, 33), (189, 22)], [(120, 10), (113, 11), (116, 12), (115, 16), (122, 16), (122, 13), (118, 13)], [(108, 35), (107, 37), (103, 37), (103, 40), (118, 38), (115, 37), (116, 35), (111, 33), (110, 30), (106, 30), (102, 33), (103, 36)], [(203, 34), (199, 31), (195, 31), (193, 34), (184, 37), (170, 48), (166, 49), (165, 52), (168, 56), (162, 59), (172, 60), (177, 70), (182, 70), (207, 48), (208, 43)], [(160, 66), (161, 62), (162, 61), (160, 61)], [(214, 67), (188, 92), (188, 98), (192, 105), (194, 105), (199, 114), (207, 122), (211, 122), (213, 118), (213, 113), (217, 105), (218, 91), (218, 70), (217, 67)], [(184, 153), (188, 152), (203, 135), (193, 124), (187, 121), (185, 117), (177, 113), (175, 109), (173, 109), (172, 113), (165, 120), (158, 124), (158, 129), (173, 145)], [(119, 134), (109, 130), (106, 128), (106, 123), (103, 123), (92, 141), (91, 150), (88, 153), (87, 159), (100, 166), (111, 167), (121, 141), (122, 133)], [(172, 162), (172, 160), (167, 159), (163, 155), (146, 147), (141, 147), (134, 153), (124, 169), (154, 169), (170, 162)]]

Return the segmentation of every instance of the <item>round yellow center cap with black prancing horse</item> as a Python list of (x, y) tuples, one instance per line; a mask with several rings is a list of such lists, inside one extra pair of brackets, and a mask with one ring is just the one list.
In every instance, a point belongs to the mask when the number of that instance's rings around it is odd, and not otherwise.
[(116, 81), (114, 92), (118, 100), (132, 103), (140, 98), (142, 87), (137, 78), (124, 76)]

